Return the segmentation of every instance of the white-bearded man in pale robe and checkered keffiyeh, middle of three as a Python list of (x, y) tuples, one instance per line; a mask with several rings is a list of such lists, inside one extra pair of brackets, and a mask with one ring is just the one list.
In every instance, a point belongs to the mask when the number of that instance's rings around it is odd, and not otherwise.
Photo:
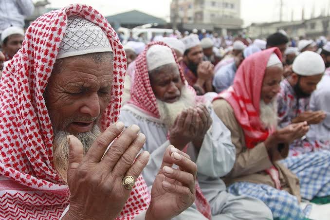
[[(136, 59), (131, 99), (119, 116), (127, 125), (137, 124), (148, 137), (144, 149), (151, 153), (151, 161), (143, 173), (147, 184), (153, 183), (170, 143), (196, 161), (199, 183), (193, 206), (173, 220), (271, 219), (262, 202), (225, 191), (220, 177), (235, 160), (229, 130), (187, 85), (174, 51), (161, 42), (147, 47)], [(163, 169), (172, 172), (170, 167)]]

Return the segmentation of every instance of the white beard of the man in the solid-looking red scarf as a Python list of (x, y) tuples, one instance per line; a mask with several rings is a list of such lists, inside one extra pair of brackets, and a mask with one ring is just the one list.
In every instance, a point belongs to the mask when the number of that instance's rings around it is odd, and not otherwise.
[(274, 98), (266, 104), (260, 100), (260, 120), (265, 128), (277, 127), (277, 100)]

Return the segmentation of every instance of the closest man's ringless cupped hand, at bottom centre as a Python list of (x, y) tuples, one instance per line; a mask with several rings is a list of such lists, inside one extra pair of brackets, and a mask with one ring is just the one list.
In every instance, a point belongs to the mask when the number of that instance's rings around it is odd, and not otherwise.
[[(178, 169), (172, 165), (178, 165)], [(151, 189), (146, 220), (170, 220), (195, 201), (197, 165), (173, 146), (167, 147), (163, 163)]]

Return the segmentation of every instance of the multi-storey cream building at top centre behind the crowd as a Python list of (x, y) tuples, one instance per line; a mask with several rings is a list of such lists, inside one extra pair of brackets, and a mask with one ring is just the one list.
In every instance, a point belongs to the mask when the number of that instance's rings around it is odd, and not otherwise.
[(172, 0), (171, 23), (185, 30), (240, 30), (240, 0)]

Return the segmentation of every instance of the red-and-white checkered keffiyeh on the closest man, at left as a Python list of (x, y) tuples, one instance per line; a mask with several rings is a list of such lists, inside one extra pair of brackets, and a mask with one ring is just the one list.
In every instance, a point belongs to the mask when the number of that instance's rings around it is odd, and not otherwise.
[[(69, 203), (68, 186), (52, 164), (53, 128), (42, 95), (72, 15), (90, 20), (109, 38), (114, 55), (112, 100), (101, 119), (102, 128), (117, 121), (126, 58), (108, 21), (82, 4), (37, 18), (0, 81), (0, 219), (58, 219)], [(118, 219), (133, 219), (149, 202), (140, 176)]]

